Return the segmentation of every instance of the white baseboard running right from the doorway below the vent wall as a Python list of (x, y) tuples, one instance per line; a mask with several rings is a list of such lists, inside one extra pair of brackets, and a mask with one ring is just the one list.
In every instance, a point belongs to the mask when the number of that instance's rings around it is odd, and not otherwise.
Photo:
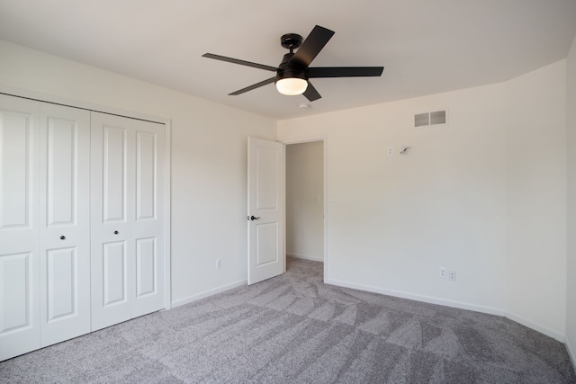
[[(553, 329), (550, 329), (546, 326), (542, 326), (540, 324), (537, 324), (535, 322), (528, 320), (525, 317), (518, 316), (517, 314), (510, 313), (510, 312), (508, 312), (504, 309), (500, 309), (500, 308), (479, 306), (476, 304), (465, 303), (462, 301), (439, 299), (439, 298), (435, 298), (435, 297), (431, 297), (431, 296), (415, 295), (415, 294), (403, 292), (400, 290), (384, 290), (384, 289), (376, 288), (376, 287), (372, 287), (372, 286), (367, 286), (367, 285), (362, 285), (362, 284), (354, 284), (354, 283), (350, 283), (347, 281), (329, 280), (329, 281), (325, 281), (325, 282), (328, 284), (332, 284), (332, 285), (338, 285), (340, 287), (353, 288), (356, 290), (367, 290), (369, 292), (374, 292), (374, 293), (382, 293), (383, 295), (389, 295), (389, 296), (393, 296), (396, 298), (424, 301), (424, 302), (430, 303), (430, 304), (437, 304), (437, 305), (446, 306), (446, 307), (467, 309), (467, 310), (473, 310), (476, 312), (487, 313), (490, 315), (508, 317), (512, 321), (516, 321), (517, 323), (519, 323), (523, 326), (527, 326), (528, 328), (532, 328), (532, 329), (534, 329), (534, 330), (536, 330), (536, 331), (538, 331), (544, 335), (550, 336), (550, 337), (558, 340), (561, 343), (564, 343), (566, 340), (564, 335), (560, 334), (559, 332), (554, 331)], [(566, 345), (568, 346), (568, 344), (566, 344)], [(573, 355), (572, 355), (572, 362), (574, 362)]]

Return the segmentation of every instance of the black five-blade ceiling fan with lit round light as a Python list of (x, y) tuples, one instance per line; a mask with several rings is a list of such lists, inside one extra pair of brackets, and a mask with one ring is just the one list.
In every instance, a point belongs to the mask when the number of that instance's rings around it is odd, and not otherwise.
[[(255, 85), (247, 86), (229, 95), (244, 94), (263, 85), (275, 83), (278, 92), (281, 94), (303, 94), (308, 100), (313, 102), (320, 99), (320, 94), (311, 85), (309, 79), (318, 77), (359, 77), (359, 76), (381, 76), (384, 67), (309, 67), (311, 62), (324, 48), (326, 43), (334, 35), (334, 31), (316, 25), (306, 40), (296, 33), (287, 33), (280, 38), (280, 42), (285, 49), (290, 49), (282, 59), (278, 67), (270, 67), (263, 64), (252, 63), (250, 61), (239, 60), (238, 58), (227, 58), (225, 56), (204, 53), (204, 58), (214, 58), (216, 60), (228, 61), (229, 63), (241, 66), (255, 67), (275, 72), (274, 77), (270, 77)], [(294, 49), (298, 49), (294, 53)]]

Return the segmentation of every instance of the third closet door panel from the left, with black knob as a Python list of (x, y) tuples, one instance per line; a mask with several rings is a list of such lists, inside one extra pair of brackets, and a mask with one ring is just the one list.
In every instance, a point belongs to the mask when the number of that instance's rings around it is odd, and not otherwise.
[(134, 145), (130, 119), (92, 113), (92, 330), (131, 318)]

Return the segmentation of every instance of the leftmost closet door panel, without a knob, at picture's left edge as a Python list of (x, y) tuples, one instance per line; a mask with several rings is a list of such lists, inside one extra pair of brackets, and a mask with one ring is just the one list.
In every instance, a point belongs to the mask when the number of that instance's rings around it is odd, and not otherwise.
[(40, 348), (39, 120), (0, 94), (0, 361)]

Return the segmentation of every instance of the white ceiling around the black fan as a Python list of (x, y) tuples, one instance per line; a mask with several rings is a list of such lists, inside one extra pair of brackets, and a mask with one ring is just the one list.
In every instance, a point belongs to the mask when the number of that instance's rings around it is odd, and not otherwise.
[[(311, 67), (384, 66), (320, 78), (309, 103), (274, 85), (284, 33), (336, 31)], [(0, 0), (0, 39), (277, 120), (500, 82), (565, 58), (576, 0)], [(1, 58), (0, 58), (1, 59)], [(311, 104), (308, 110), (299, 104)]]

